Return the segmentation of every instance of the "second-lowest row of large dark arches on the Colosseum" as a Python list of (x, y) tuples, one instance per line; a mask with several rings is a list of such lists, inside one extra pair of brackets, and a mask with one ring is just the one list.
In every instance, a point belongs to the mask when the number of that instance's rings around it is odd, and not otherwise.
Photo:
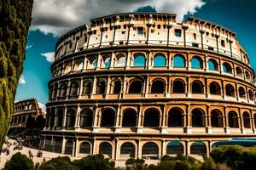
[[(137, 127), (138, 119), (140, 118), (137, 111), (134, 109), (125, 109), (121, 114), (121, 127)], [(244, 111), (241, 114), (241, 117), (236, 113), (236, 111), (230, 111), (225, 116), (218, 109), (214, 109), (210, 112), (210, 125), (212, 127), (241, 127), (241, 121), (243, 126), (246, 128), (252, 127), (251, 119), (256, 123), (256, 114), (251, 118), (250, 114), (247, 111)], [(66, 122), (64, 122), (64, 111), (59, 109), (52, 111), (47, 118), (47, 127), (75, 127), (76, 122), (77, 126), (81, 128), (92, 127), (94, 117), (97, 117), (99, 124), (95, 126), (99, 127), (114, 127), (117, 122), (117, 114), (113, 109), (107, 108), (102, 109), (98, 116), (95, 116), (94, 112), (91, 109), (83, 109), (79, 113), (79, 122), (76, 121), (76, 111), (74, 109), (67, 110)], [(192, 127), (205, 127), (207, 121), (207, 114), (200, 108), (195, 108), (191, 111), (191, 126)], [(154, 108), (149, 108), (143, 113), (143, 127), (160, 127), (161, 124), (161, 113), (159, 110)], [(226, 119), (228, 119), (226, 121)], [(64, 122), (64, 123), (63, 123)], [(185, 126), (185, 113), (183, 109), (174, 107), (167, 113), (166, 126), (167, 127), (184, 127)], [(225, 124), (227, 122), (228, 124)]]

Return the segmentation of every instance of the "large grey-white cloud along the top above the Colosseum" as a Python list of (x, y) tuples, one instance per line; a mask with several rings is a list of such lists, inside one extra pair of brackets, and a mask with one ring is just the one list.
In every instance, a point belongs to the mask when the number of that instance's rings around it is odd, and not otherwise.
[(177, 14), (182, 21), (184, 14), (194, 14), (203, 0), (34, 0), (31, 30), (60, 36), (73, 27), (106, 14), (133, 12), (137, 8), (151, 6), (160, 13)]

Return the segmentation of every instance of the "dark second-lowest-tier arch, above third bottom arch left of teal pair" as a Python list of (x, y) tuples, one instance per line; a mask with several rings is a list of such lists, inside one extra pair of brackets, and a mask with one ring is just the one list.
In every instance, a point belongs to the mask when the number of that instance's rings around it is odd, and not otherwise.
[(113, 127), (115, 119), (115, 112), (112, 109), (102, 111), (101, 127)]

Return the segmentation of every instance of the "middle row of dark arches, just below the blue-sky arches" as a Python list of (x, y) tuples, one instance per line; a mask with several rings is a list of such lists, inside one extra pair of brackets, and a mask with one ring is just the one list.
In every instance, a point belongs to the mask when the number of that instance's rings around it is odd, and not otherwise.
[[(126, 82), (126, 89), (124, 89), (123, 81), (119, 78), (112, 80), (109, 89), (107, 88), (108, 82), (105, 79), (97, 79), (96, 81), (96, 94), (120, 94), (123, 90), (125, 90), (126, 94), (143, 94), (144, 87), (146, 86), (144, 83), (145, 81), (142, 78), (133, 78), (129, 82)], [(79, 83), (80, 82), (78, 81), (72, 81), (69, 88), (67, 87), (67, 82), (61, 82), (60, 87), (56, 84), (54, 88), (50, 90), (50, 99), (55, 99), (57, 96), (60, 99), (66, 99), (67, 96), (78, 98), (79, 95), (84, 96), (93, 93), (94, 86), (92, 80), (84, 80), (82, 90), (79, 89)], [(223, 87), (218, 81), (212, 81), (207, 87), (205, 82), (202, 82), (201, 80), (195, 79), (188, 85), (188, 82), (185, 82), (182, 78), (176, 78), (170, 86), (172, 87), (172, 94), (185, 94), (191, 89), (190, 91), (192, 94), (205, 94), (209, 91), (208, 94), (225, 94), (226, 96), (254, 100), (253, 89), (246, 89), (241, 85), (236, 87), (233, 83), (226, 83)], [(164, 79), (155, 78), (149, 84), (149, 94), (165, 94), (168, 88), (168, 84)], [(67, 89), (69, 89), (69, 91)], [(238, 91), (237, 94), (236, 89)]]

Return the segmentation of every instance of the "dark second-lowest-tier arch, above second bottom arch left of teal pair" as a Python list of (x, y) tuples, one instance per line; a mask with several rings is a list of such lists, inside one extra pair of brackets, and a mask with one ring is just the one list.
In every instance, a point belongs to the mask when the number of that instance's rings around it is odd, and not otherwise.
[(136, 127), (137, 113), (132, 109), (127, 109), (123, 113), (123, 127)]

